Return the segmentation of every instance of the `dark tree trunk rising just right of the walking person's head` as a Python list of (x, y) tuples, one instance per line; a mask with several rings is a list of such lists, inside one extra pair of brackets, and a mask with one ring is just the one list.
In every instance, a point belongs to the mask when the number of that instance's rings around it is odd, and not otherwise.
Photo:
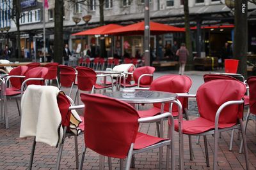
[(187, 60), (187, 66), (189, 69), (193, 69), (193, 53), (192, 53), (192, 43), (191, 43), (191, 32), (189, 24), (189, 8), (188, 0), (183, 0), (184, 4), (184, 19), (185, 19), (185, 28), (186, 28), (186, 48), (189, 51), (189, 57)]

